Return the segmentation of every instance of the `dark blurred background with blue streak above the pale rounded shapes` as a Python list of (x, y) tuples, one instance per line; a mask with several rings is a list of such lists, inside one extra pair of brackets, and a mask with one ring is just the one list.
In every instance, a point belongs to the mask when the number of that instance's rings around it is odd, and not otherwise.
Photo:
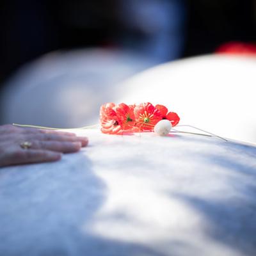
[(0, 83), (58, 49), (132, 49), (159, 63), (256, 42), (255, 0), (2, 0)]

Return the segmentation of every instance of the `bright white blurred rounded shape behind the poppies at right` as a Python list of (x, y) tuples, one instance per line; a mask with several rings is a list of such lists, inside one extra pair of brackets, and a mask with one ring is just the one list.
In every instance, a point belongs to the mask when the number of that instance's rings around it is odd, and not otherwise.
[(256, 143), (256, 58), (209, 55), (173, 61), (120, 85), (120, 102), (164, 104), (189, 124)]

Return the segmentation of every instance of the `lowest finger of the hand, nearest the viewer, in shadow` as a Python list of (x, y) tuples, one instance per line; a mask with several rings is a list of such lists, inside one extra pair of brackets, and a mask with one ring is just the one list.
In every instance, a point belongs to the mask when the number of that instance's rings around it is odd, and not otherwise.
[(8, 152), (5, 157), (5, 161), (2, 163), (4, 165), (12, 164), (28, 164), (28, 163), (42, 163), (58, 161), (61, 159), (61, 153), (52, 152), (50, 150), (23, 150), (16, 149)]

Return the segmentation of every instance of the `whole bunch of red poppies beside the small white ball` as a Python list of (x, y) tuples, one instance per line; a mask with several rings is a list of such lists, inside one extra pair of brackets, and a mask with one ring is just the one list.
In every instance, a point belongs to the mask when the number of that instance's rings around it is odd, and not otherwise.
[(165, 106), (153, 106), (149, 102), (129, 106), (107, 103), (100, 107), (101, 131), (108, 134), (153, 131), (157, 122), (163, 119), (169, 120), (172, 126), (180, 120), (176, 113), (168, 112)]

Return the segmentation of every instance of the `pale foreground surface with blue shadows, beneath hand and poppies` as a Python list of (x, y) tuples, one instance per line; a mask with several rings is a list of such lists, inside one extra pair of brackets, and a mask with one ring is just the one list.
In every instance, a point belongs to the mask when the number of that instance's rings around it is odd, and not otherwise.
[(78, 154), (1, 168), (0, 255), (255, 255), (256, 147), (78, 133)]

